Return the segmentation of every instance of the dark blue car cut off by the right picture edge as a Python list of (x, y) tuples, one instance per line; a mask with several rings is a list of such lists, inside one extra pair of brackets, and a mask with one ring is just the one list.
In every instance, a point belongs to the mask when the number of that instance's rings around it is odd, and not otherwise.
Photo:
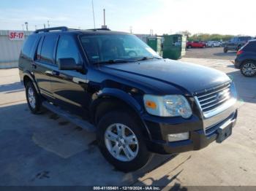
[(256, 75), (256, 40), (247, 42), (236, 52), (235, 67), (240, 69), (245, 77)]

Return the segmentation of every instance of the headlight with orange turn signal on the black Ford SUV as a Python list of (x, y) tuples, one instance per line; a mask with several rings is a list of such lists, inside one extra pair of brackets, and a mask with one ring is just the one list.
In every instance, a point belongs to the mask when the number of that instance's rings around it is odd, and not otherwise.
[(183, 95), (144, 95), (143, 99), (149, 114), (184, 118), (189, 118), (192, 115), (192, 109)]

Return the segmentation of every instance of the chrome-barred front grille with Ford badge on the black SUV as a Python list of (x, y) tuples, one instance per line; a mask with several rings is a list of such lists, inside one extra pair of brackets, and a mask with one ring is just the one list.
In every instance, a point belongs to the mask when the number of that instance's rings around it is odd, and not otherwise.
[(202, 112), (209, 112), (230, 99), (230, 83), (196, 95)]

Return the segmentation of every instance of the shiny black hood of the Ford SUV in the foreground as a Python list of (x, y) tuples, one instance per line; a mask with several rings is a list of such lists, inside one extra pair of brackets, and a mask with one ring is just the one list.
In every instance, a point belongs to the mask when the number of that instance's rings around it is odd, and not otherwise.
[[(135, 63), (115, 63), (104, 66), (111, 73), (127, 79), (144, 81), (151, 79), (152, 86), (173, 85), (181, 90), (187, 90), (189, 94), (221, 85), (230, 81), (222, 71), (200, 66), (194, 63), (184, 63), (170, 59), (140, 61)], [(159, 82), (159, 83), (157, 83)], [(166, 87), (162, 88), (166, 90)]]

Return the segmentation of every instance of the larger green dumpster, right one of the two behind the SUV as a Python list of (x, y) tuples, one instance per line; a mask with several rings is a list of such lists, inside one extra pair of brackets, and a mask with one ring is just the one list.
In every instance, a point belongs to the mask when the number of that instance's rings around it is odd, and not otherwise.
[(178, 60), (186, 54), (187, 36), (181, 34), (163, 36), (162, 57)]

